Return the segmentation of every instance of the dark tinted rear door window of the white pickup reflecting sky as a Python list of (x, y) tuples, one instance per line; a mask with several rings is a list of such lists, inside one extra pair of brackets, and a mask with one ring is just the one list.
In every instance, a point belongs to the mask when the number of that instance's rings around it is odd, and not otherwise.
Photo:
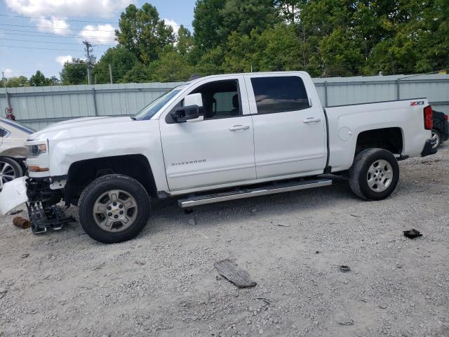
[(297, 76), (253, 77), (257, 114), (274, 114), (310, 107), (304, 82)]

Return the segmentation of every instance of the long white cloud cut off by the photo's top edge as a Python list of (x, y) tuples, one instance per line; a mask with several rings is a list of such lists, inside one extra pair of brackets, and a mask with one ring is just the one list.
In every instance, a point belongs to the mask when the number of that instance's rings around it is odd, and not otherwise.
[(21, 15), (111, 18), (135, 0), (5, 0), (11, 11)]

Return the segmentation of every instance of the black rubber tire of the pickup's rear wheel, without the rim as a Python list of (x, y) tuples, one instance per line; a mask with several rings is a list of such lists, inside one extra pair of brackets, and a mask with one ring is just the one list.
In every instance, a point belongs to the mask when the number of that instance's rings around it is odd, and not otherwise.
[[(383, 159), (391, 166), (392, 178), (386, 190), (377, 192), (368, 185), (368, 170), (376, 161)], [(382, 175), (383, 177), (383, 175)], [(349, 186), (352, 192), (361, 199), (382, 200), (394, 191), (399, 180), (399, 165), (394, 155), (383, 149), (363, 150), (356, 155), (354, 163), (349, 169)]]

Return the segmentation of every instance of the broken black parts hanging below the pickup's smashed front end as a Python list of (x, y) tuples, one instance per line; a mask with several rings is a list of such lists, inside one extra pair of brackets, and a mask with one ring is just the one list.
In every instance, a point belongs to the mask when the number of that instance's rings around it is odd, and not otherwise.
[(63, 190), (52, 190), (50, 178), (27, 178), (28, 216), (34, 234), (47, 231), (47, 228), (60, 230), (66, 223), (74, 222), (73, 216), (65, 216), (58, 206)]

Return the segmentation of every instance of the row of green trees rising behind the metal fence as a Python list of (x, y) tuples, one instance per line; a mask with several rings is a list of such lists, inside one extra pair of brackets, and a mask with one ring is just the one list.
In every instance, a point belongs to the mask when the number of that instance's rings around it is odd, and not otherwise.
[[(197, 0), (174, 33), (151, 4), (129, 5), (92, 81), (185, 81), (191, 74), (305, 70), (313, 77), (449, 68), (447, 0)], [(86, 61), (61, 84), (86, 84)], [(31, 80), (31, 79), (30, 79)]]

